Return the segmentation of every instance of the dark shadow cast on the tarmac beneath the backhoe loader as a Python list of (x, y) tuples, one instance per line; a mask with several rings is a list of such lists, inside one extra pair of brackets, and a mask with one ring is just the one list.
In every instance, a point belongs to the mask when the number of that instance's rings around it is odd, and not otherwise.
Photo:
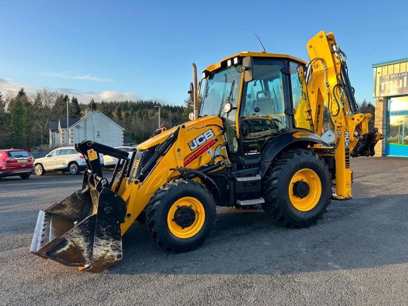
[(333, 201), (317, 226), (301, 230), (261, 210), (221, 209), (212, 237), (186, 253), (162, 250), (144, 224), (135, 224), (123, 237), (123, 259), (108, 273), (291, 274), (406, 263), (407, 196)]

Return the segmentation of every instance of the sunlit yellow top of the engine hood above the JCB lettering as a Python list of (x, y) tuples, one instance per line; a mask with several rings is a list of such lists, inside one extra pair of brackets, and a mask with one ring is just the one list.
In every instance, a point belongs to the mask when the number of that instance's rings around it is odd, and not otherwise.
[[(188, 121), (186, 123), (183, 123), (182, 125), (185, 126), (186, 131), (188, 131), (192, 127), (202, 127), (207, 125), (219, 125), (222, 128), (222, 120), (218, 116), (205, 116), (196, 120)], [(172, 129), (167, 130), (166, 132), (163, 132), (155, 137), (151, 137), (146, 141), (140, 143), (136, 148), (138, 150), (147, 150), (148, 148), (158, 145), (159, 143), (165, 141), (167, 137), (169, 137), (170, 134), (175, 131), (176, 128), (177, 126), (172, 127)]]

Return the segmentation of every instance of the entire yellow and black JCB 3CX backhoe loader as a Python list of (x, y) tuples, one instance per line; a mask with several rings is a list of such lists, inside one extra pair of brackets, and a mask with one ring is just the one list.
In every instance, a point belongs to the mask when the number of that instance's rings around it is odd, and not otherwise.
[[(217, 205), (261, 205), (271, 219), (304, 227), (330, 199), (350, 199), (350, 156), (373, 156), (382, 136), (368, 131), (371, 114), (358, 113), (333, 33), (319, 32), (307, 49), (309, 63), (241, 52), (205, 69), (198, 86), (194, 70), (191, 121), (158, 129), (131, 159), (96, 142), (76, 144), (88, 166), (82, 189), (40, 211), (31, 252), (99, 272), (122, 258), (121, 236), (141, 214), (162, 248), (180, 252), (210, 236)], [(320, 137), (325, 106), (334, 146)], [(110, 182), (99, 154), (118, 159)]]

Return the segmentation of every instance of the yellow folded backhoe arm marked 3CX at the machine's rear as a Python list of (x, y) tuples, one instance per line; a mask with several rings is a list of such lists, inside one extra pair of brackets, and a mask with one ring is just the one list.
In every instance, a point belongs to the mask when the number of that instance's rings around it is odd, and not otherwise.
[(323, 157), (334, 155), (334, 198), (349, 199), (352, 197), (350, 156), (373, 156), (374, 146), (382, 135), (376, 129), (368, 131), (371, 114), (358, 113), (348, 78), (346, 56), (333, 33), (326, 35), (323, 31), (319, 32), (309, 40), (307, 49), (310, 63), (306, 80), (315, 133), (321, 136), (324, 106), (335, 126), (335, 146), (316, 150)]

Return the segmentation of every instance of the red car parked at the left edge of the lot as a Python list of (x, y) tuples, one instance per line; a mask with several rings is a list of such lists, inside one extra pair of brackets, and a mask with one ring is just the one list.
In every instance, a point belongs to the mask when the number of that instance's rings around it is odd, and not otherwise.
[(33, 156), (19, 149), (0, 150), (0, 179), (6, 176), (17, 176), (28, 179), (33, 173)]

